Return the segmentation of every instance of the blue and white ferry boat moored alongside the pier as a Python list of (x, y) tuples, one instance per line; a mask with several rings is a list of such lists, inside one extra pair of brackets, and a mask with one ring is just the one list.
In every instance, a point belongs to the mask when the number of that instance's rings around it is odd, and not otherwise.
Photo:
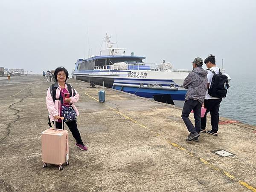
[(144, 63), (146, 57), (126, 55), (127, 48), (114, 48), (111, 37), (105, 37), (100, 55), (78, 59), (72, 77), (103, 85), (141, 97), (182, 107), (186, 89), (183, 80), (191, 70), (172, 69), (171, 63)]

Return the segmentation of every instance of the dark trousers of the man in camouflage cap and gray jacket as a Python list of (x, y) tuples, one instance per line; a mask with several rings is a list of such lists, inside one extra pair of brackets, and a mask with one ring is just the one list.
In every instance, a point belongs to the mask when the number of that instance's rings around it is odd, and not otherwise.
[[(198, 100), (189, 99), (186, 100), (182, 109), (181, 117), (191, 133), (200, 131), (201, 128), (201, 108), (202, 104)], [(195, 126), (189, 120), (189, 114), (191, 111), (194, 111)]]

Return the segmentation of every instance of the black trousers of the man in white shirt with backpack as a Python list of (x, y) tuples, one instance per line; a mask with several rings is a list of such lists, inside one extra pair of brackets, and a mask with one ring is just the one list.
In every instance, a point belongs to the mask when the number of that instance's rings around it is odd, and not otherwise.
[(211, 125), (212, 125), (212, 132), (218, 132), (218, 121), (219, 121), (219, 114), (218, 111), (220, 109), (220, 99), (205, 99), (204, 100), (204, 108), (206, 108), (206, 112), (204, 117), (201, 118), (201, 129), (205, 129), (206, 127), (206, 115), (208, 112), (211, 114)]

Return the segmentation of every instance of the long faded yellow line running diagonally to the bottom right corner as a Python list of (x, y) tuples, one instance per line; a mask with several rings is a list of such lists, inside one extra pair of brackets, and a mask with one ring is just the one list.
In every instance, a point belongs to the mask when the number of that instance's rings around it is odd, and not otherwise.
[[(84, 93), (85, 95), (87, 95), (88, 97), (96, 100), (99, 102), (99, 100), (97, 100), (96, 98), (88, 95), (87, 93)], [(112, 109), (113, 111), (117, 112), (119, 115), (122, 115), (123, 117), (125, 117), (126, 119), (128, 120), (131, 120), (132, 122), (138, 124), (139, 126), (143, 127), (144, 129), (147, 129), (148, 131), (150, 132), (153, 132), (153, 133), (156, 133), (157, 136), (161, 136), (164, 140), (166, 140), (169, 144), (171, 144), (172, 146), (176, 147), (177, 149), (180, 149), (181, 151), (183, 152), (186, 152), (188, 155), (192, 156), (192, 157), (195, 157), (195, 158), (198, 158), (196, 157), (192, 152), (189, 152), (187, 149), (183, 148), (182, 146), (179, 146), (177, 143), (172, 143), (170, 140), (167, 140), (166, 138), (164, 138), (162, 135), (158, 134), (157, 132), (149, 129), (148, 127), (144, 126), (143, 124), (137, 122), (136, 120), (132, 119), (131, 117), (128, 117), (127, 115), (119, 112), (118, 110), (116, 109), (113, 109), (111, 106), (108, 106), (106, 105), (105, 103), (102, 103), (103, 105), (107, 106), (108, 108)], [(250, 186), (248, 183), (244, 182), (244, 181), (241, 181), (239, 179), (236, 179), (235, 176), (231, 175), (230, 173), (224, 171), (223, 169), (220, 169), (218, 168), (217, 166), (215, 166), (214, 164), (210, 163), (209, 161), (203, 159), (203, 158), (198, 158), (202, 163), (204, 163), (205, 165), (209, 166), (211, 169), (215, 170), (215, 171), (218, 171), (218, 172), (221, 172), (223, 175), (227, 176), (230, 180), (233, 180), (233, 181), (237, 181), (240, 185), (246, 187), (247, 189), (250, 189), (251, 191), (253, 192), (256, 192), (256, 188), (254, 188), (253, 186)]]

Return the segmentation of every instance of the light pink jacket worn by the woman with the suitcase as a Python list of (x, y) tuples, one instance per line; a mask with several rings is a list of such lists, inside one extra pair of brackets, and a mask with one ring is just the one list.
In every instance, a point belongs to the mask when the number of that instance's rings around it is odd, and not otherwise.
[[(58, 82), (55, 83), (55, 86), (58, 86), (58, 88), (56, 89), (55, 97), (56, 97), (56, 99), (59, 99), (60, 93), (61, 93), (61, 86), (58, 84)], [(67, 89), (67, 84), (66, 83), (65, 83), (65, 88)], [(73, 95), (73, 90), (75, 90), (75, 92), (76, 92), (76, 89), (71, 89), (71, 90), (72, 90), (72, 94), (70, 94), (70, 95)], [(76, 115), (78, 116), (79, 112), (78, 112), (78, 109), (76, 108), (76, 106), (74, 104), (74, 103), (78, 102), (78, 100), (79, 100), (78, 92), (76, 92), (76, 95), (74, 97), (70, 97), (70, 99), (71, 99), (70, 103), (72, 103), (72, 107), (76, 111)], [(54, 120), (53, 116), (55, 116), (55, 115), (60, 116), (61, 112), (59, 111), (59, 109), (60, 109), (60, 106), (61, 106), (61, 100), (55, 100), (55, 103), (53, 103), (52, 92), (50, 92), (50, 87), (47, 89), (46, 105), (47, 105), (47, 109), (48, 109), (48, 112), (49, 112), (50, 120)]]

